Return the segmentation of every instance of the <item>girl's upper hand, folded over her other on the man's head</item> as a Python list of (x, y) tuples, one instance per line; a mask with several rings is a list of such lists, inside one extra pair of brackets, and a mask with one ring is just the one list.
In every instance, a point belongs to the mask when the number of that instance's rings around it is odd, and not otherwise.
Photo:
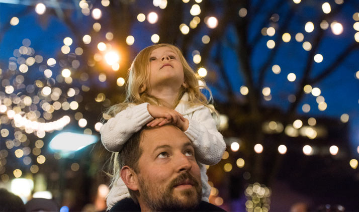
[(177, 123), (178, 120), (182, 120), (183, 122), (185, 121), (185, 118), (180, 113), (163, 106), (149, 104), (147, 106), (147, 110), (148, 113), (155, 119), (164, 118), (167, 121), (170, 121), (170, 123)]

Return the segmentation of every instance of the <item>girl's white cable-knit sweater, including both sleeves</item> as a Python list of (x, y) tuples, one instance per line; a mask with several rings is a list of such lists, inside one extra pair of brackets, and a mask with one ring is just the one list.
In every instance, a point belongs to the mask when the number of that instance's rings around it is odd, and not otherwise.
[[(223, 136), (218, 132), (216, 122), (210, 110), (204, 105), (190, 107), (188, 93), (185, 93), (180, 103), (174, 109), (189, 121), (185, 134), (195, 146), (196, 159), (201, 169), (202, 200), (208, 201), (211, 186), (208, 184), (206, 167), (203, 164), (214, 165), (218, 163), (226, 149)], [(101, 140), (105, 148), (111, 152), (121, 151), (126, 141), (145, 124), (153, 120), (148, 113), (148, 103), (131, 105), (118, 113), (104, 124), (100, 130)], [(107, 197), (107, 206), (111, 208), (119, 200), (130, 197), (128, 188), (121, 177), (111, 188)]]

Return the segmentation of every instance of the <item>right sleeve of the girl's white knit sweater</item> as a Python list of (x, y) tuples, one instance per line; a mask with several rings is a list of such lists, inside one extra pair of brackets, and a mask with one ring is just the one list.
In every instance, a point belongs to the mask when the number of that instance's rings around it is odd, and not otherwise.
[(217, 130), (210, 110), (207, 107), (196, 110), (188, 120), (189, 127), (185, 134), (195, 146), (197, 160), (207, 165), (218, 163), (222, 159), (226, 144)]

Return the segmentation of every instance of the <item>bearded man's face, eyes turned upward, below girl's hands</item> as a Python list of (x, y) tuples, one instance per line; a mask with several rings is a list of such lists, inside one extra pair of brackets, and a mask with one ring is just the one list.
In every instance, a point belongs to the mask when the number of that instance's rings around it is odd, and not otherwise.
[(194, 208), (201, 200), (202, 184), (190, 140), (171, 125), (145, 130), (142, 136), (137, 174), (141, 208), (143, 204), (162, 211)]

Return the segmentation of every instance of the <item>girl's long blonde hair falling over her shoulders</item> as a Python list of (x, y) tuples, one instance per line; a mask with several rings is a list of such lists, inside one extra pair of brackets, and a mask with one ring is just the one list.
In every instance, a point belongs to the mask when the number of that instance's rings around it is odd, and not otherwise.
[[(212, 93), (206, 85), (199, 85), (198, 81), (201, 80), (204, 82), (203, 78), (194, 72), (191, 66), (187, 63), (181, 50), (171, 44), (157, 44), (144, 48), (135, 57), (131, 67), (128, 70), (125, 101), (113, 105), (105, 112), (105, 114), (109, 115), (110, 117), (114, 117), (119, 112), (125, 110), (129, 104), (141, 104), (144, 102), (148, 102), (150, 104), (162, 105), (161, 101), (158, 98), (149, 95), (147, 93), (147, 89), (145, 89), (145, 85), (149, 84), (149, 58), (152, 51), (159, 47), (169, 47), (170, 49), (172, 49), (172, 51), (174, 51), (180, 57), (180, 61), (183, 66), (185, 83), (187, 84), (187, 86), (181, 87), (181, 90), (180, 92), (178, 92), (176, 101), (173, 106), (175, 107), (175, 105), (180, 102), (183, 94), (187, 92), (189, 95), (187, 103), (189, 103), (191, 106), (203, 104), (206, 107), (209, 107), (209, 101), (200, 89), (204, 88), (209, 91), (209, 94), (211, 96), (210, 99), (212, 99)], [(214, 110), (212, 107), (210, 107), (210, 109), (212, 111)]]

